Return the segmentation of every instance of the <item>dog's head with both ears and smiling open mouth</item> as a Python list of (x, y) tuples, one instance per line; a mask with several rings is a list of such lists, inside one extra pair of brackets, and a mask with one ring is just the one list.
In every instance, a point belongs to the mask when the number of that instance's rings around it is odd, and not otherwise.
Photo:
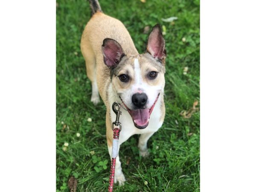
[(150, 114), (165, 85), (165, 41), (160, 25), (153, 27), (147, 52), (125, 55), (121, 45), (104, 39), (104, 63), (111, 69), (112, 87), (128, 110), (137, 128), (148, 126)]

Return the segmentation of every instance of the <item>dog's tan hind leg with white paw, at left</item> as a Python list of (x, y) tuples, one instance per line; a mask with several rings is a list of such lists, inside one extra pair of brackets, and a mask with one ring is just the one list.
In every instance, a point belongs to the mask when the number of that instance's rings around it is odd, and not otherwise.
[(96, 81), (96, 58), (93, 49), (90, 46), (90, 42), (87, 41), (86, 37), (82, 37), (81, 40), (81, 52), (85, 59), (87, 77), (92, 83), (92, 96), (91, 102), (94, 105), (99, 103), (99, 90)]

